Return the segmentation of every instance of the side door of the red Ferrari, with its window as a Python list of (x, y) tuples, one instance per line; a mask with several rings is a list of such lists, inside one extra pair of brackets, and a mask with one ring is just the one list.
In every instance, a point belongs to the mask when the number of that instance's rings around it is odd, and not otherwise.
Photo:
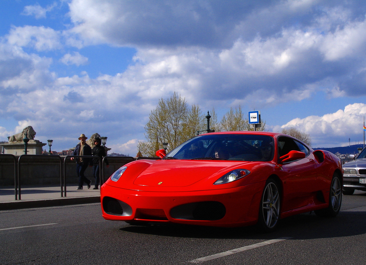
[(280, 163), (284, 173), (282, 211), (289, 211), (313, 203), (316, 193), (316, 167), (315, 161), (309, 158), (310, 150), (290, 137), (279, 137), (277, 144), (279, 163), (280, 157), (292, 150), (301, 151), (306, 155), (305, 158), (299, 160)]

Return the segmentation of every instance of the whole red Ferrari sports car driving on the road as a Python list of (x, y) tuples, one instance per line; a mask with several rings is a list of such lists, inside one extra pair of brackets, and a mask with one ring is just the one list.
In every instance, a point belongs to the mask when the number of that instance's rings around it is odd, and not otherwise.
[(343, 170), (335, 155), (288, 135), (236, 131), (201, 134), (159, 160), (137, 160), (101, 187), (102, 216), (129, 224), (218, 227), (257, 224), (315, 211), (336, 216)]

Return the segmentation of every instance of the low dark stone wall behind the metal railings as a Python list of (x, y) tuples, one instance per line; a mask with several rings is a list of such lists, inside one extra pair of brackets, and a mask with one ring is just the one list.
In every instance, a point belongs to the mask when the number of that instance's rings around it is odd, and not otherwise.
[[(61, 157), (61, 160), (60, 160)], [(19, 156), (15, 156), (18, 168)], [(65, 156), (37, 155), (22, 156), (20, 160), (20, 184), (21, 185), (60, 185), (60, 170), (63, 170)], [(109, 167), (104, 164), (104, 178), (107, 180), (113, 172), (128, 162), (134, 161), (133, 157), (107, 157)], [(61, 161), (61, 169), (60, 169)], [(85, 176), (92, 180), (94, 177), (92, 168), (88, 167)], [(76, 163), (69, 158), (66, 161), (66, 184), (78, 184), (76, 175)], [(14, 159), (10, 156), (0, 155), (0, 186), (14, 186)]]

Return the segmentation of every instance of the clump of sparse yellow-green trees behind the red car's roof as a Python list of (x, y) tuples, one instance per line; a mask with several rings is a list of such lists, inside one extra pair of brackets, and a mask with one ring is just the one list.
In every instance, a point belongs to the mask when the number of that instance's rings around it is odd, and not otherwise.
[[(154, 157), (157, 150), (168, 143), (168, 151), (197, 135), (197, 131), (206, 130), (206, 115), (202, 114), (198, 105), (188, 107), (186, 100), (177, 93), (169, 99), (161, 98), (157, 107), (151, 111), (149, 121), (145, 125), (146, 141), (138, 143), (138, 150), (143, 156)], [(242, 108), (235, 111), (230, 108), (220, 122), (214, 108), (210, 113), (210, 129), (215, 131), (253, 131)], [(265, 122), (259, 131), (265, 130)]]

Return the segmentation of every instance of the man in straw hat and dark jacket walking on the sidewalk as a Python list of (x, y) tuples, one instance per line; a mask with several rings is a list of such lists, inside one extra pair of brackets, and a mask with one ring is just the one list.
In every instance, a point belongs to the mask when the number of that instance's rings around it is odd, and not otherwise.
[[(80, 143), (78, 143), (75, 147), (74, 150), (74, 155), (92, 155), (91, 154), (91, 147), (86, 143), (86, 139), (87, 137), (85, 136), (85, 134), (81, 134), (79, 137)], [(92, 166), (93, 162), (91, 160), (91, 158), (86, 158), (86, 157), (80, 157), (80, 158), (74, 158), (71, 157), (71, 160), (76, 160), (76, 173), (78, 174), (79, 177), (79, 187), (77, 188), (77, 190), (82, 190), (83, 189), (83, 183), (85, 182), (87, 184), (87, 188), (90, 189), (90, 184), (91, 184), (91, 180), (88, 180), (85, 176), (84, 176), (84, 172), (86, 170), (86, 168), (88, 167), (88, 165)]]

